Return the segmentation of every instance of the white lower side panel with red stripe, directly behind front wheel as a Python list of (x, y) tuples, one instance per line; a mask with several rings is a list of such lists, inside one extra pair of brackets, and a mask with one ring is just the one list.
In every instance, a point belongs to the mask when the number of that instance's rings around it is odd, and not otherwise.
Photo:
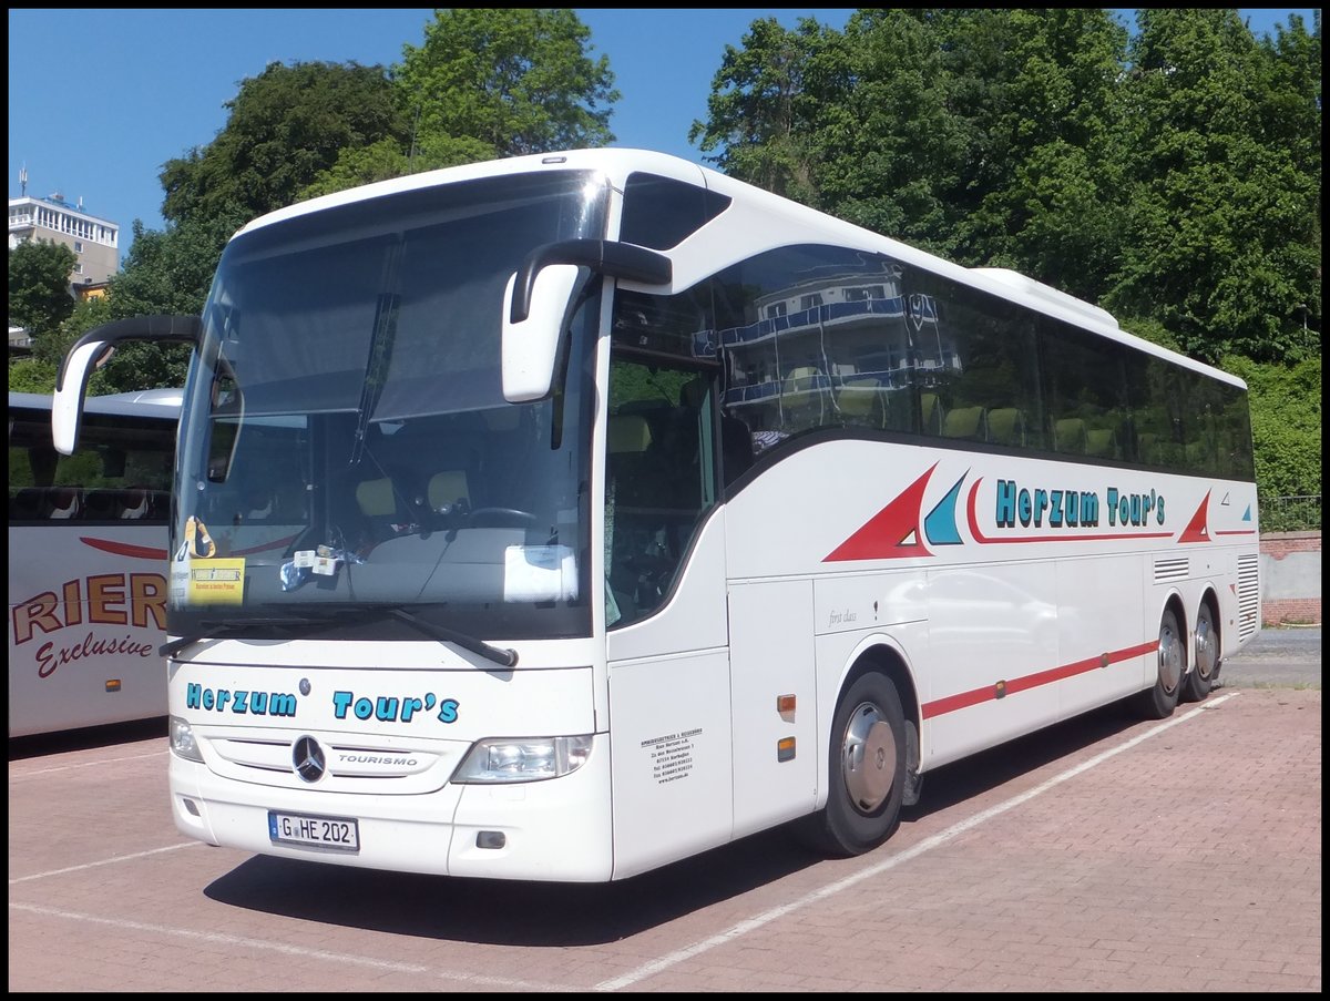
[(974, 564), (928, 572), (935, 764), (1057, 720), (1055, 564)]

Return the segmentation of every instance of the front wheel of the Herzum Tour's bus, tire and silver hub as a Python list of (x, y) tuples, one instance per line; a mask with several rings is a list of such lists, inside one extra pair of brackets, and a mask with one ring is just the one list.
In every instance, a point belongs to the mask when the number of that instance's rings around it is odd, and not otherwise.
[(891, 837), (900, 824), (907, 753), (895, 684), (876, 671), (859, 675), (837, 704), (827, 804), (805, 817), (803, 840), (826, 856), (849, 859)]

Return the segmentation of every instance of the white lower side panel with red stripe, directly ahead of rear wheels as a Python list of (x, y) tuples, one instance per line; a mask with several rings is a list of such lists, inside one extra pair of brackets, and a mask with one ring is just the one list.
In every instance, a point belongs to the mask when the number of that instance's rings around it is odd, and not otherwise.
[[(1141, 556), (1100, 556), (1057, 563), (1059, 671), (1063, 717), (1146, 688), (1154, 679), (1154, 652), (1141, 646), (1154, 639), (1142, 623)], [(1111, 586), (1108, 582), (1117, 582)]]

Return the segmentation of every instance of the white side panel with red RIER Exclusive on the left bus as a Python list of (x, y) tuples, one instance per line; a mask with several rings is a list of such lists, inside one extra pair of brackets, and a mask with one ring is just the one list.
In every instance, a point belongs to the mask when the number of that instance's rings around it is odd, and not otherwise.
[(9, 528), (11, 737), (166, 715), (165, 560), (162, 526)]

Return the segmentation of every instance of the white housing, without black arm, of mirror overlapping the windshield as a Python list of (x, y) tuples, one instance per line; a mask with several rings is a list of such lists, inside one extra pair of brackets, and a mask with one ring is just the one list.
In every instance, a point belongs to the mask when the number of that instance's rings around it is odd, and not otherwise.
[(577, 284), (577, 268), (556, 264), (535, 276), (525, 318), (513, 321), (512, 296), (517, 276), (508, 280), (503, 297), (503, 395), (509, 403), (528, 403), (549, 395), (559, 355), (559, 334)]

